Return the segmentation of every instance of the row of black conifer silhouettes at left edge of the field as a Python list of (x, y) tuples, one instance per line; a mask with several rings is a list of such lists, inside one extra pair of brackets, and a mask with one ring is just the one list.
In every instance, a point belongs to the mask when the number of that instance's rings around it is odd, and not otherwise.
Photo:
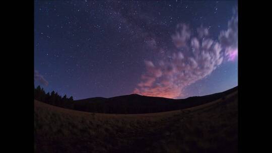
[(57, 92), (55, 93), (54, 91), (52, 91), (51, 93), (48, 92), (46, 94), (43, 88), (41, 88), (40, 86), (38, 86), (37, 88), (34, 87), (34, 99), (50, 105), (74, 109), (73, 96), (71, 96), (70, 98), (67, 98), (66, 95), (61, 97), (60, 95), (58, 95)]

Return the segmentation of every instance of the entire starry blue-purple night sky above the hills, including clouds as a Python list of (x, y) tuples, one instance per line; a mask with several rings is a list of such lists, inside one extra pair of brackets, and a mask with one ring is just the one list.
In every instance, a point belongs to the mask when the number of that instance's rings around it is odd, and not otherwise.
[(237, 1), (35, 1), (45, 92), (181, 99), (238, 85)]

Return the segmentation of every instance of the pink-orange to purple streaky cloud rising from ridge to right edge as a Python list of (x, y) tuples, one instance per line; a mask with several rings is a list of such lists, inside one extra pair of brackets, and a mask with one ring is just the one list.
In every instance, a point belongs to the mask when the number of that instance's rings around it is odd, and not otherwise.
[[(200, 26), (194, 36), (188, 24), (178, 24), (171, 36), (176, 48), (160, 51), (158, 62), (145, 61), (146, 73), (133, 93), (178, 98), (183, 89), (211, 74), (223, 59), (234, 60), (238, 52), (238, 17), (234, 14), (219, 41), (209, 38), (208, 28)], [(157, 48), (164, 50), (162, 48)]]

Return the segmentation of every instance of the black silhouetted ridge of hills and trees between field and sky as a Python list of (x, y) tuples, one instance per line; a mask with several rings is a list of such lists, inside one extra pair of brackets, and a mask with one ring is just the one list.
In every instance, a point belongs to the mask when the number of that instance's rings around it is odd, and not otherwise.
[(45, 94), (43, 89), (40, 89), (38, 86), (37, 89), (35, 89), (34, 95), (36, 100), (58, 107), (79, 111), (114, 114), (142, 114), (179, 110), (206, 104), (224, 98), (225, 95), (237, 90), (238, 87), (235, 87), (222, 93), (195, 96), (186, 99), (168, 99), (131, 94), (112, 98), (95, 97), (74, 101), (73, 97), (67, 99), (65, 95), (61, 98), (61, 96), (54, 93), (54, 91), (51, 92), (51, 95), (49, 95), (49, 93)]

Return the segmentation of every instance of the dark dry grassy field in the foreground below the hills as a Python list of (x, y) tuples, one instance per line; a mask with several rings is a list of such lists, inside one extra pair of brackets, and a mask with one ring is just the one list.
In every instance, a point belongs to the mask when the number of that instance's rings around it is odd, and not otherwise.
[(34, 101), (35, 152), (238, 152), (238, 96), (150, 114), (99, 114)]

